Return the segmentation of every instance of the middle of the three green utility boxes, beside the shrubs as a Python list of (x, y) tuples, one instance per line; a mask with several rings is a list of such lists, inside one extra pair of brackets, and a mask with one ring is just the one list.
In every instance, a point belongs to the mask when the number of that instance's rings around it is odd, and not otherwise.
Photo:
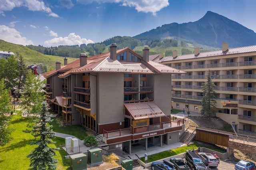
[(91, 165), (103, 164), (102, 149), (94, 148), (88, 150), (88, 162)]

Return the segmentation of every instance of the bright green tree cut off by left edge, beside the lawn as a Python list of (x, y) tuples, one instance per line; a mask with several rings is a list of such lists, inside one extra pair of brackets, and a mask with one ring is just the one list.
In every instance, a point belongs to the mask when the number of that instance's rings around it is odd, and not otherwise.
[(10, 134), (13, 129), (9, 127), (12, 111), (9, 90), (6, 89), (4, 79), (0, 80), (0, 146), (4, 146), (11, 140)]

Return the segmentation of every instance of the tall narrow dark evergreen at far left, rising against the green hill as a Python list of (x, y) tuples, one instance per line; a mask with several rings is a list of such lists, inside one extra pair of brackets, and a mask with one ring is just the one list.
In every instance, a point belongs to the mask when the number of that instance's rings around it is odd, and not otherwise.
[(22, 55), (20, 54), (19, 58), (18, 58), (18, 72), (19, 72), (19, 79), (18, 79), (18, 89), (17, 89), (17, 101), (20, 97), (20, 90), (23, 88), (23, 84), (26, 78), (26, 75), (28, 73), (28, 69), (26, 66), (26, 63), (24, 61), (24, 57), (22, 57)]

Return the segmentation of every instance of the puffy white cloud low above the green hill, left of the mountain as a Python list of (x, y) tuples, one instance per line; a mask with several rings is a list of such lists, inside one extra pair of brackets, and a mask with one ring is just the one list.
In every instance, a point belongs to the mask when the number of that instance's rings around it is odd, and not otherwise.
[(94, 43), (92, 40), (87, 40), (86, 38), (81, 38), (76, 36), (75, 33), (70, 33), (68, 37), (58, 37), (53, 38), (52, 40), (47, 40), (44, 42), (46, 46), (58, 46), (58, 45), (80, 45), (82, 43)]

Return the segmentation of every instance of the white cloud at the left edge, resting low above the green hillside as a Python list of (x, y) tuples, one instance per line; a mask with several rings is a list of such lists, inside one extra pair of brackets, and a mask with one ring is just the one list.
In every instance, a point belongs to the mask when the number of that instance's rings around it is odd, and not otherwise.
[(14, 28), (9, 28), (8, 26), (0, 26), (0, 39), (6, 42), (21, 44), (21, 45), (33, 45), (31, 40), (26, 37), (22, 37), (20, 32)]

